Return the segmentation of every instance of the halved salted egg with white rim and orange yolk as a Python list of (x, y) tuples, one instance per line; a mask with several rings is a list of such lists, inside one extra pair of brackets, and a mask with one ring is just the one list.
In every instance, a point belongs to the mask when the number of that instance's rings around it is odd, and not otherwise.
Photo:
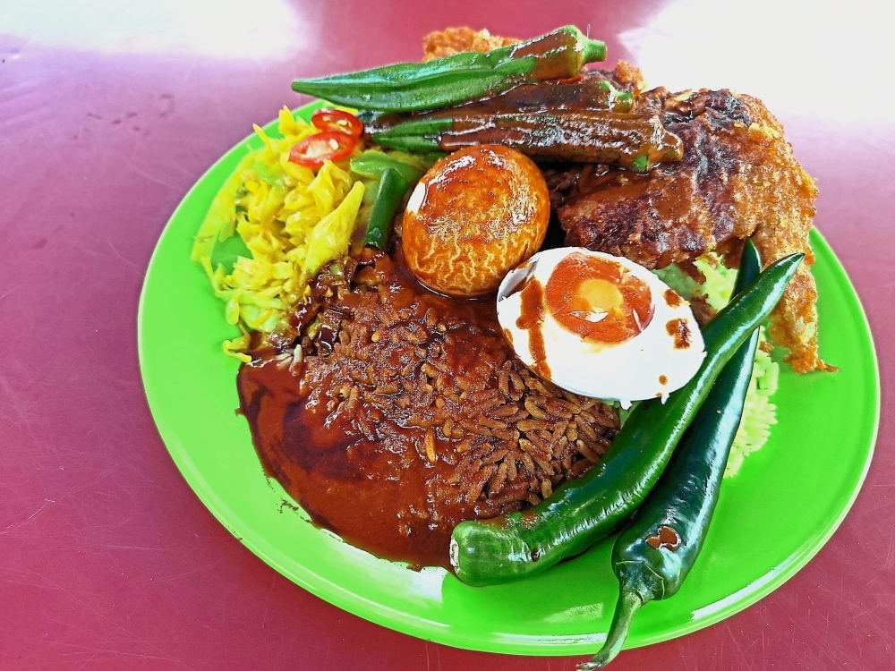
[(582, 247), (541, 251), (504, 277), (498, 320), (518, 357), (575, 394), (662, 398), (705, 357), (689, 303), (634, 261)]

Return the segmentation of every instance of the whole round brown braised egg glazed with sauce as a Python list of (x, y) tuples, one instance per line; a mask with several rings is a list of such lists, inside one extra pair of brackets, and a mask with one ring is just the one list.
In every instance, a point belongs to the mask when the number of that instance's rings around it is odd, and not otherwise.
[(402, 234), (407, 267), (448, 296), (492, 293), (538, 251), (549, 221), (547, 183), (532, 159), (498, 145), (461, 149), (411, 194)]

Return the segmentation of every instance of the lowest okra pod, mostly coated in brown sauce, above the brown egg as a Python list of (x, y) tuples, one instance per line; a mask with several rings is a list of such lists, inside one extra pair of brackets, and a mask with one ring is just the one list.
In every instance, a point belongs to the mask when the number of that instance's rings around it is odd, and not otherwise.
[(684, 143), (656, 115), (604, 110), (438, 116), (397, 123), (371, 133), (382, 147), (405, 151), (456, 151), (501, 144), (536, 160), (606, 163), (646, 172), (661, 161), (679, 161)]

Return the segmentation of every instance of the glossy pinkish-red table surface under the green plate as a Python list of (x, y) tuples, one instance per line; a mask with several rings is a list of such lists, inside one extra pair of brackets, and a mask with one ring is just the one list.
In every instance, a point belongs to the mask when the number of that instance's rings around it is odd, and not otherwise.
[(883, 4), (770, 0), (0, 3), (0, 668), (556, 670), (581, 659), (447, 648), (288, 582), (187, 487), (136, 352), (143, 274), (167, 218), (251, 123), (303, 102), (295, 75), (414, 60), (422, 35), (447, 25), (527, 37), (564, 23), (590, 27), (610, 62), (641, 65), (653, 84), (728, 86), (771, 106), (818, 180), (816, 225), (857, 286), (882, 366), (874, 463), (830, 543), (753, 607), (613, 668), (895, 667), (888, 16)]

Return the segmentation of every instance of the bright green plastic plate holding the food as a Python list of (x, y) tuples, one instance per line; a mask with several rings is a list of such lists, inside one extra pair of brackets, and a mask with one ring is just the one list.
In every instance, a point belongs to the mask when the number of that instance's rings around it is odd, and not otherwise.
[[(275, 126), (266, 130), (276, 133)], [(245, 153), (259, 147), (257, 138), (246, 140), (196, 183), (161, 235), (143, 285), (143, 383), (183, 477), (268, 565), (357, 616), (473, 650), (596, 650), (618, 595), (610, 539), (533, 579), (471, 588), (444, 569), (414, 572), (314, 527), (301, 510), (284, 505), (283, 489), (265, 477), (248, 425), (234, 413), (238, 362), (221, 351), (221, 341), (237, 334), (202, 268), (190, 261), (193, 235), (217, 190)], [(641, 610), (629, 648), (693, 632), (763, 598), (814, 556), (857, 497), (879, 420), (879, 372), (848, 276), (816, 232), (812, 244), (823, 358), (841, 370), (797, 376), (782, 369), (779, 424), (770, 441), (724, 482), (694, 570), (675, 597)]]

